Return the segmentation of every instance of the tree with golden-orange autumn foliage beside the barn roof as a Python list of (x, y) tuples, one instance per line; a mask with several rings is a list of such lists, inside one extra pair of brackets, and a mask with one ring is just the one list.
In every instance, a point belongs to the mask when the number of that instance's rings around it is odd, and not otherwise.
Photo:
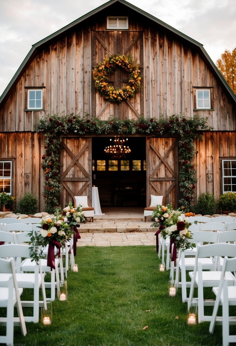
[(217, 60), (216, 66), (236, 94), (236, 48), (233, 49), (232, 53), (225, 49), (225, 52), (221, 54), (221, 59)]

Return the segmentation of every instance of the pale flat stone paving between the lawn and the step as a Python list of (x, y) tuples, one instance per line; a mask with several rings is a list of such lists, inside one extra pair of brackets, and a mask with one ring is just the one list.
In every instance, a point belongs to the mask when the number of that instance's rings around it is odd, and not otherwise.
[(119, 232), (119, 233), (80, 233), (77, 246), (129, 246), (156, 245), (156, 231), (152, 232)]

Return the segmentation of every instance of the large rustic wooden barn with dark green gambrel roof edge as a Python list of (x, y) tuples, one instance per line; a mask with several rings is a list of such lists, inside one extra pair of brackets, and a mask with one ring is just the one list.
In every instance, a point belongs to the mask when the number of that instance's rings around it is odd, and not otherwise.
[[(131, 56), (140, 89), (122, 102), (106, 100), (96, 89), (94, 67), (105, 57)], [(115, 69), (108, 84), (122, 89), (127, 72)], [(34, 44), (0, 98), (0, 191), (16, 197), (31, 192), (44, 210), (45, 152), (40, 119), (57, 114), (159, 119), (184, 114), (208, 118), (213, 129), (196, 139), (196, 189), (236, 192), (236, 97), (202, 44), (124, 0), (110, 0)], [(130, 134), (131, 153), (105, 153), (115, 135), (69, 133), (60, 149), (61, 206), (72, 195), (99, 189), (101, 206), (142, 206), (150, 194), (164, 194), (178, 206), (178, 138)], [(111, 139), (111, 141), (110, 141)]]

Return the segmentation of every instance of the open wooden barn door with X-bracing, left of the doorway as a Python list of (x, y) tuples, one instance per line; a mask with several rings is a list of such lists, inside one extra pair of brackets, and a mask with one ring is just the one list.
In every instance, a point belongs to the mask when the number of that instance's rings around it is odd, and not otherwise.
[(91, 138), (63, 138), (61, 151), (61, 206), (73, 196), (88, 195), (92, 199)]

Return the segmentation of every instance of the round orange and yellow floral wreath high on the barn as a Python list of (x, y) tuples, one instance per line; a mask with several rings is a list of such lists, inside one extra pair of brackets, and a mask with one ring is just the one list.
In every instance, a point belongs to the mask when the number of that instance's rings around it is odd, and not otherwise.
[[(113, 72), (117, 66), (128, 72), (128, 85), (122, 89), (115, 89), (114, 86), (107, 83), (108, 74)], [(93, 79), (95, 80), (95, 88), (105, 100), (120, 103), (129, 97), (134, 97), (140, 88), (141, 77), (138, 65), (134, 65), (130, 56), (127, 57), (122, 54), (105, 57), (101, 63), (96, 65)]]

